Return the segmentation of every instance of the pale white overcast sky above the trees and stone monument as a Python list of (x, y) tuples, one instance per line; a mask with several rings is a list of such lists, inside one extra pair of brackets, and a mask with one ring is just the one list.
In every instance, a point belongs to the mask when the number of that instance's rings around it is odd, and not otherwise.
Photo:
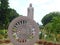
[(17, 13), (27, 16), (27, 8), (32, 3), (34, 7), (34, 20), (41, 23), (41, 19), (48, 13), (60, 11), (60, 0), (9, 0), (11, 8)]

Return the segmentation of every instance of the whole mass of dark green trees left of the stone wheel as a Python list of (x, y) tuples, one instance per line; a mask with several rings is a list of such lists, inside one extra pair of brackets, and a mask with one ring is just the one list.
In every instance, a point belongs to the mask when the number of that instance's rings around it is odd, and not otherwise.
[(11, 20), (19, 16), (8, 4), (8, 0), (0, 0), (0, 29), (7, 29)]

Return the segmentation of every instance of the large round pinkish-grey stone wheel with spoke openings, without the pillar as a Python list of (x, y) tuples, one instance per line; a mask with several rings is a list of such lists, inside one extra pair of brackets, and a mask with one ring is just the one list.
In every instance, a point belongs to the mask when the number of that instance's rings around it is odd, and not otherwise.
[(8, 28), (8, 36), (14, 45), (33, 45), (39, 39), (38, 34), (36, 22), (25, 16), (14, 19)]

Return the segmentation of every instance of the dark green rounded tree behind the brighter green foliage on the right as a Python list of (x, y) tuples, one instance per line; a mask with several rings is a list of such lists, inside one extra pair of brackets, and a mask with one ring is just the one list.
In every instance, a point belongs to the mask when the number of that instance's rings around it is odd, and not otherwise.
[(42, 18), (42, 23), (45, 26), (47, 23), (51, 22), (51, 20), (53, 19), (53, 17), (56, 16), (60, 16), (60, 12), (51, 12), (49, 14), (46, 14), (43, 18)]

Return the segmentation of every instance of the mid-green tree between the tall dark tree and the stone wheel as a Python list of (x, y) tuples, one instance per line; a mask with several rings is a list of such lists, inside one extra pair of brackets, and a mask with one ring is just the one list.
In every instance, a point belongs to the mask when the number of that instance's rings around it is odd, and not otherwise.
[(6, 22), (6, 27), (5, 28), (8, 28), (8, 25), (9, 25), (9, 23), (14, 19), (14, 18), (16, 18), (16, 17), (18, 17), (19, 16), (19, 14), (16, 12), (16, 10), (14, 10), (14, 9), (11, 9), (11, 8), (9, 8), (8, 9), (8, 21)]

